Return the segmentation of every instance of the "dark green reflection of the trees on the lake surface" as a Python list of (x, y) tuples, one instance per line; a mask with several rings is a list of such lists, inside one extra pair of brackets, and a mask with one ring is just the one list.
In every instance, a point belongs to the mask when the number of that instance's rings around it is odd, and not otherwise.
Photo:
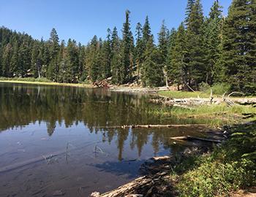
[[(0, 131), (29, 123), (45, 122), (51, 136), (56, 124), (71, 125), (83, 123), (91, 132), (102, 134), (102, 141), (112, 142), (116, 138), (118, 159), (122, 159), (124, 142), (129, 134), (129, 146), (138, 149), (151, 144), (154, 152), (159, 144), (168, 144), (170, 129), (113, 129), (107, 126), (132, 124), (166, 124), (170, 119), (148, 113), (153, 105), (148, 96), (113, 93), (107, 90), (0, 84)], [(174, 132), (177, 132), (175, 130)]]

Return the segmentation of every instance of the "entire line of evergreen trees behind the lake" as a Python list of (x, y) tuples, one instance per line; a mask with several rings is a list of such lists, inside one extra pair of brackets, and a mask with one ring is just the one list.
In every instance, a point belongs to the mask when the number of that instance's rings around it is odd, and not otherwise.
[(177, 84), (197, 90), (225, 82), (232, 90), (256, 93), (256, 1), (233, 0), (228, 15), (214, 1), (208, 17), (200, 0), (188, 0), (186, 18), (178, 29), (165, 22), (156, 45), (146, 17), (133, 36), (127, 10), (118, 36), (108, 29), (106, 39), (94, 36), (88, 45), (69, 39), (35, 40), (0, 28), (0, 76), (46, 77), (56, 82), (95, 82), (111, 77), (113, 84), (143, 86)]

